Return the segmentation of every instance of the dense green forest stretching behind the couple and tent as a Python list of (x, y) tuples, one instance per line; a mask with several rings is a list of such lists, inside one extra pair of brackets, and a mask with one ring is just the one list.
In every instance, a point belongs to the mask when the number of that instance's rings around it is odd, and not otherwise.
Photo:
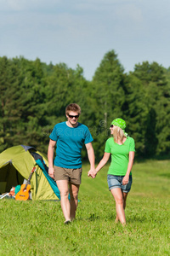
[[(24, 144), (48, 151), (54, 125), (65, 121), (65, 107), (82, 108), (79, 122), (94, 137), (96, 159), (104, 154), (111, 121), (126, 120), (138, 159), (167, 158), (170, 152), (170, 67), (144, 61), (125, 73), (115, 50), (104, 55), (88, 81), (83, 68), (53, 65), (23, 56), (0, 57), (0, 153)], [(82, 159), (87, 159), (85, 148)]]

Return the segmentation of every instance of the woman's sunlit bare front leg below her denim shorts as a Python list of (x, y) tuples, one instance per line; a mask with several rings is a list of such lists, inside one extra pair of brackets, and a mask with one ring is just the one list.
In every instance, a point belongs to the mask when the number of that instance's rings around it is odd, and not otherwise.
[(116, 221), (120, 220), (122, 224), (126, 224), (122, 189), (111, 189), (111, 194), (113, 195), (116, 201)]

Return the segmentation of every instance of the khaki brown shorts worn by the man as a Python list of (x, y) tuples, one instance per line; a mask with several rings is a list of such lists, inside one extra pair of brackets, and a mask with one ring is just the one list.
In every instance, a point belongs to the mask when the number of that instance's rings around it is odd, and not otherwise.
[(68, 180), (72, 184), (80, 185), (82, 177), (82, 168), (78, 169), (68, 169), (59, 166), (54, 166), (54, 179), (58, 180)]

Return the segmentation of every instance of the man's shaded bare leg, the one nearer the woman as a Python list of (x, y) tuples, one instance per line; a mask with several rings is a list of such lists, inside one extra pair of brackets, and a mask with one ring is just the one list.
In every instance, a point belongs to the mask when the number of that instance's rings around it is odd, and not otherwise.
[(78, 190), (80, 185), (69, 183), (70, 185), (70, 203), (71, 203), (71, 220), (75, 218), (78, 205)]

